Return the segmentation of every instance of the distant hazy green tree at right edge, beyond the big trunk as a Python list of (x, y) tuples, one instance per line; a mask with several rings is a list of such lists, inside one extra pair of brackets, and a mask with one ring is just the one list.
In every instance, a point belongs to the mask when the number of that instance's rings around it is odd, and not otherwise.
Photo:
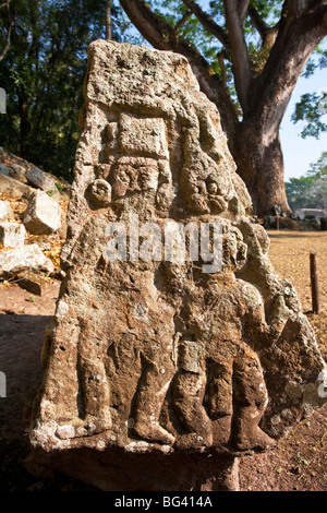
[(286, 191), (292, 210), (327, 208), (327, 152), (311, 164), (311, 169), (300, 178), (290, 178)]

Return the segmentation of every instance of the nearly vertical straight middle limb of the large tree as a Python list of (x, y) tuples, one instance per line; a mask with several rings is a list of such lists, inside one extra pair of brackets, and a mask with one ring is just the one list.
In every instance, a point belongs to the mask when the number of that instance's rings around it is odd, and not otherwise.
[(243, 114), (246, 116), (249, 110), (249, 92), (252, 82), (247, 48), (245, 45), (235, 0), (223, 0), (223, 5), (229, 40), (231, 45), (235, 90), (243, 109)]

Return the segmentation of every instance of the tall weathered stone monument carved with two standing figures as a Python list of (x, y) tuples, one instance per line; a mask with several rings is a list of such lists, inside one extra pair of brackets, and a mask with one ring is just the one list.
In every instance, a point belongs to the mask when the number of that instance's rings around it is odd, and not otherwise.
[(183, 57), (92, 44), (81, 127), (35, 461), (105, 490), (237, 489), (240, 454), (326, 401), (313, 330)]

